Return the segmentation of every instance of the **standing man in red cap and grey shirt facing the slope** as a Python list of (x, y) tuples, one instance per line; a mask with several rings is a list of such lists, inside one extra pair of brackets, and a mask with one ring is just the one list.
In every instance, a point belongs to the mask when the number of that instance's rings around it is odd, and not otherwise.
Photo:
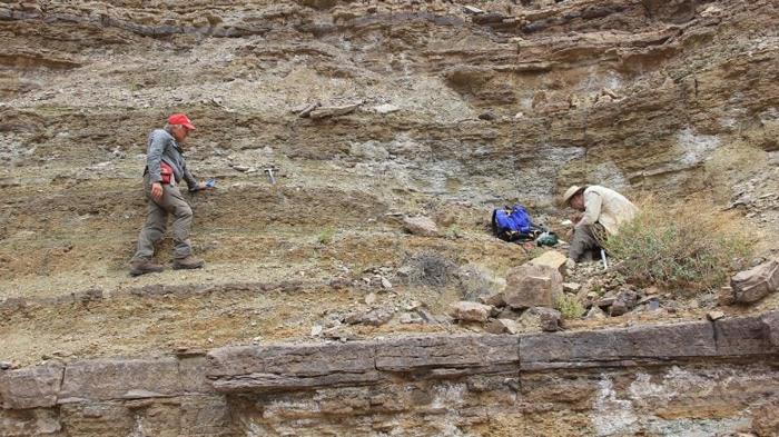
[(148, 212), (138, 236), (138, 250), (130, 261), (131, 276), (164, 270), (162, 266), (151, 261), (151, 257), (154, 245), (165, 235), (168, 215), (174, 217), (174, 269), (199, 269), (205, 265), (193, 256), (189, 244), (193, 209), (179, 190), (181, 179), (187, 182), (190, 192), (210, 189), (205, 182), (195, 180), (184, 160), (181, 143), (193, 130), (195, 126), (187, 116), (174, 113), (168, 117), (164, 129), (156, 129), (149, 135), (144, 171)]

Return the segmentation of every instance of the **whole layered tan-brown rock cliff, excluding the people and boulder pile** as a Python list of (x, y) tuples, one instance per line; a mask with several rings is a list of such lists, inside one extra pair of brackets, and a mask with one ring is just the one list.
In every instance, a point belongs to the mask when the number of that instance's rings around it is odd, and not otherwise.
[[(732, 179), (773, 175), (777, 29), (771, 0), (0, 3), (0, 359), (21, 366), (0, 370), (0, 435), (749, 427), (773, 405), (769, 319), (83, 358), (294, 342), (312, 326), (347, 340), (318, 315), (362, 288), (445, 308), (460, 261), (520, 262), (483, 226), (513, 197), (545, 208), (598, 181), (727, 201)], [(179, 111), (198, 128), (188, 167), (218, 179), (185, 196), (198, 256), (219, 267), (128, 287), (146, 136)], [(397, 218), (415, 215), (446, 238), (404, 238)], [(376, 267), (397, 267), (392, 284), (355, 285)], [(515, 287), (512, 306), (553, 304), (552, 276), (536, 279), (544, 291)], [(85, 281), (105, 292), (78, 296)], [(60, 347), (70, 362), (26, 367)]]

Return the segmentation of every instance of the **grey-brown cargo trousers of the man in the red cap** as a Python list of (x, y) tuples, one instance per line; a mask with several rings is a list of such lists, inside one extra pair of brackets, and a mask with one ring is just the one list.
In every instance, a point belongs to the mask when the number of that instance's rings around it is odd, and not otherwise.
[(149, 201), (146, 224), (138, 236), (138, 250), (132, 261), (151, 259), (155, 254), (155, 244), (165, 235), (168, 225), (168, 213), (174, 216), (174, 258), (184, 259), (191, 255), (189, 242), (189, 227), (193, 222), (193, 209), (181, 196), (177, 185), (162, 185), (162, 198), (159, 201), (151, 199), (151, 183), (149, 176), (144, 177), (144, 192)]

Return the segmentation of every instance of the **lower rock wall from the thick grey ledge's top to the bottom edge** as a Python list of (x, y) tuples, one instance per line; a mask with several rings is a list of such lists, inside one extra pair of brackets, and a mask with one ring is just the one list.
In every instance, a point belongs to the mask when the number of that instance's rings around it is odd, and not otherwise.
[[(0, 435), (430, 435), (509, 425), (525, 435), (674, 435), (681, 424), (728, 434), (752, 419), (770, 435), (777, 317), (226, 347), (7, 370)], [(559, 413), (554, 420), (539, 414), (541, 404)]]

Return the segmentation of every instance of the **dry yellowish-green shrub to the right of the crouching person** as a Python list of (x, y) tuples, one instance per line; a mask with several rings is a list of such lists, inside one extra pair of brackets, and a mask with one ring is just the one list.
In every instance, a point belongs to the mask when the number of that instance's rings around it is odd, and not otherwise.
[(721, 286), (747, 266), (753, 232), (739, 216), (704, 200), (639, 202), (641, 212), (604, 244), (634, 284), (701, 291)]

